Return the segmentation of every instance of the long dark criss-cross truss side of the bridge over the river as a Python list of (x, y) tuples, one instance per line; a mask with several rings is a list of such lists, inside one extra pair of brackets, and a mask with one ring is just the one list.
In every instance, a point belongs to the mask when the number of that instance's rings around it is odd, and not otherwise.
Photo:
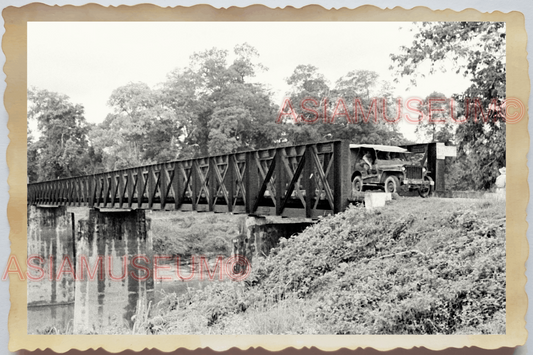
[(350, 148), (331, 141), (28, 184), (28, 204), (316, 218), (343, 211)]

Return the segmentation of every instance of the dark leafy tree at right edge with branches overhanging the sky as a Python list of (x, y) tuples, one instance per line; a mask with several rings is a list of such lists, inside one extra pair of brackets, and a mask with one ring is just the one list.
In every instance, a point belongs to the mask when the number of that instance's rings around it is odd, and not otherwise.
[(505, 99), (505, 39), (503, 22), (424, 22), (411, 46), (391, 54), (396, 73), (415, 83), (424, 62), (431, 64), (430, 72), (439, 63), (456, 63), (455, 72), (471, 79), (465, 92), (454, 95), (457, 117), (466, 120), (456, 132), (456, 162), (463, 168), (456, 188), (488, 189), (505, 166), (505, 118), (487, 117), (491, 101)]

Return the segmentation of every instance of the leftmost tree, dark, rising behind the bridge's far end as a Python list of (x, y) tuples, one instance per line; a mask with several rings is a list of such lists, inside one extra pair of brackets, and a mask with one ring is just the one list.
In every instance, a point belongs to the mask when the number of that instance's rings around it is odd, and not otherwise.
[(38, 135), (28, 131), (30, 181), (52, 180), (90, 173), (89, 131), (83, 107), (68, 96), (48, 90), (28, 90), (28, 120), (37, 122)]

